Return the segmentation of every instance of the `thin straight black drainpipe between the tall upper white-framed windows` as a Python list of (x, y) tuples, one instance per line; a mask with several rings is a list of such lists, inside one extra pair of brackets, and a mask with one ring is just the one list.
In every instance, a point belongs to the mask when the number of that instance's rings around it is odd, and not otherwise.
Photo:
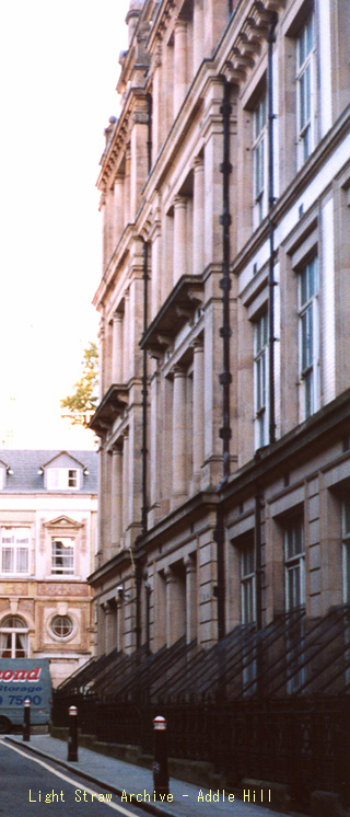
[(276, 12), (271, 14), (271, 25), (268, 33), (268, 148), (269, 148), (269, 441), (276, 440), (275, 416), (275, 223), (272, 209), (275, 205), (273, 185), (273, 43), (275, 30), (278, 21)]

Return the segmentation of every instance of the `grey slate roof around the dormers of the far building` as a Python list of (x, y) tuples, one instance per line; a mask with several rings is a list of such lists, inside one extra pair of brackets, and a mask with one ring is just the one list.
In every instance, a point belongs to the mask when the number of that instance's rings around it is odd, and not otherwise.
[[(50, 462), (60, 453), (73, 457), (79, 463), (89, 471), (84, 474), (83, 485), (81, 488), (69, 488), (67, 491), (47, 491), (44, 487), (44, 473), (38, 474), (45, 463)], [(0, 460), (7, 464), (12, 474), (7, 473), (5, 486), (0, 491), (1, 494), (96, 494), (97, 493), (97, 452), (96, 451), (73, 451), (66, 449), (47, 450), (47, 449), (0, 449)], [(73, 464), (72, 464), (73, 467)]]

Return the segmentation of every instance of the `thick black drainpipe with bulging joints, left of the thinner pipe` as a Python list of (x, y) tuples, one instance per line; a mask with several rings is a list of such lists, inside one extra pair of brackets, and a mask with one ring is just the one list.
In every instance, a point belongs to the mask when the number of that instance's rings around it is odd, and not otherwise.
[(220, 287), (222, 289), (222, 311), (223, 311), (223, 326), (220, 330), (220, 336), (223, 341), (223, 371), (219, 375), (219, 382), (223, 388), (223, 400), (222, 400), (222, 413), (223, 413), (223, 426), (220, 428), (220, 437), (223, 441), (223, 480), (225, 482), (230, 476), (230, 439), (231, 439), (231, 426), (230, 426), (230, 384), (232, 381), (230, 372), (230, 173), (232, 171), (232, 164), (230, 162), (230, 84), (225, 77), (223, 80), (223, 103), (220, 108), (222, 114), (223, 124), (223, 162), (220, 165), (222, 173), (222, 203), (223, 210), (220, 216), (220, 223), (222, 226), (222, 278), (220, 280)]

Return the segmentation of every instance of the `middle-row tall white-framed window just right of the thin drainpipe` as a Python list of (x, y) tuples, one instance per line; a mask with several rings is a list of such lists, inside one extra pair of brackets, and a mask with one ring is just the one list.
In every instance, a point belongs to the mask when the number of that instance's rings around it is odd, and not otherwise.
[(300, 381), (302, 418), (319, 407), (318, 263), (306, 264), (299, 275)]

